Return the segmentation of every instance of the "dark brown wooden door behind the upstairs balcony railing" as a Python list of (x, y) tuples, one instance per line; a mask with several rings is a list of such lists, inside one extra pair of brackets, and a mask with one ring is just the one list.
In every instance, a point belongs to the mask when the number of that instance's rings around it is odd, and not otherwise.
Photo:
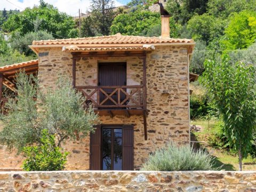
[[(99, 63), (99, 86), (122, 86), (126, 85), (126, 62), (108, 62)], [(110, 94), (115, 89), (103, 89), (107, 94)], [(111, 96), (117, 102), (117, 92)], [(100, 102), (106, 98), (106, 95), (100, 93)], [(121, 101), (125, 99), (125, 94), (121, 93)], [(113, 101), (108, 99), (103, 105), (115, 105)]]

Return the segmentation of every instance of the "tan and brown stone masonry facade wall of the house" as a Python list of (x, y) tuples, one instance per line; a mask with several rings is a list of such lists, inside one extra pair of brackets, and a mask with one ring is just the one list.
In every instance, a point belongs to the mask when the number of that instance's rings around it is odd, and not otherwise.
[[(61, 48), (49, 48), (40, 49), (38, 56), (41, 87), (54, 87), (59, 73), (65, 72), (71, 79), (70, 53), (62, 52)], [(77, 62), (76, 85), (97, 85), (97, 63), (102, 61), (126, 61), (127, 85), (142, 83), (142, 61), (137, 57), (84, 58)], [(148, 154), (164, 146), (166, 141), (189, 142), (186, 46), (158, 46), (147, 54), (147, 109), (147, 141), (144, 140), (142, 116), (100, 117), (102, 124), (134, 124), (134, 169), (139, 169)], [(83, 141), (70, 141), (63, 148), (70, 151), (67, 170), (89, 169), (89, 137)], [(7, 159), (0, 157), (0, 161)]]

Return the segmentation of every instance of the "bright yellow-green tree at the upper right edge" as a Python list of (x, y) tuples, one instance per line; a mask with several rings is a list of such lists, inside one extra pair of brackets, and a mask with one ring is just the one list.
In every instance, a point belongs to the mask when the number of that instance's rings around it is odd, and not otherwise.
[(242, 11), (230, 16), (223, 46), (228, 50), (245, 49), (256, 39), (256, 11)]

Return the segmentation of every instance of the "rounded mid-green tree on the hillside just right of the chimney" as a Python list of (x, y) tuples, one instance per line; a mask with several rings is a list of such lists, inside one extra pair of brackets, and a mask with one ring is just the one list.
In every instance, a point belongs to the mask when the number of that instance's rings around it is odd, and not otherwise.
[(223, 35), (226, 20), (214, 18), (212, 15), (195, 15), (188, 21), (187, 28), (193, 39), (196, 41), (205, 41), (209, 44), (213, 39), (220, 38)]

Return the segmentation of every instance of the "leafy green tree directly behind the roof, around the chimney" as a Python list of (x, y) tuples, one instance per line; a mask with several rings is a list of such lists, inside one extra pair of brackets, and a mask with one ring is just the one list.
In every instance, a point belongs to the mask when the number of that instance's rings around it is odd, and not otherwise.
[[(170, 36), (177, 37), (179, 27), (170, 18)], [(161, 17), (159, 13), (137, 10), (127, 14), (119, 14), (111, 26), (111, 34), (122, 35), (161, 35)]]

